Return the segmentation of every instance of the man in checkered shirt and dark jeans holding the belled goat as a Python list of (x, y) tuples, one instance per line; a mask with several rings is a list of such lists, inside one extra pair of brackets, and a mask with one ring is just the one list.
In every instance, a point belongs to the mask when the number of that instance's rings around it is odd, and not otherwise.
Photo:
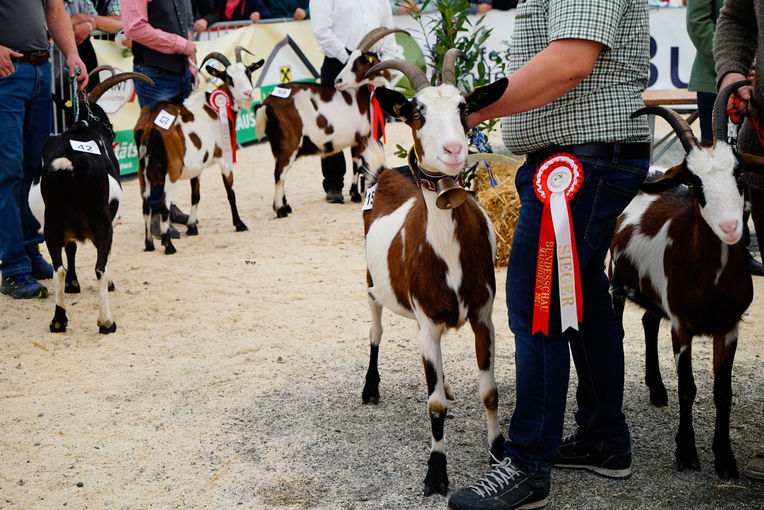
[[(522, 207), (507, 274), (515, 334), (516, 403), (505, 458), (454, 493), (449, 508), (546, 506), (550, 471), (574, 467), (612, 478), (631, 474), (631, 442), (622, 412), (623, 332), (604, 272), (618, 215), (642, 184), (650, 157), (644, 106), (649, 20), (646, 0), (525, 0), (516, 11), (509, 77), (501, 97), (469, 115), (469, 126), (504, 117), (509, 150), (526, 154), (515, 184)], [(503, 92), (501, 89), (503, 88)], [(581, 275), (583, 320), (562, 331), (554, 278), (548, 334), (532, 333), (543, 203), (534, 178), (548, 158), (567, 153), (583, 168), (570, 199)], [(562, 438), (570, 370), (578, 374), (575, 433)], [(500, 459), (497, 459), (497, 461)]]

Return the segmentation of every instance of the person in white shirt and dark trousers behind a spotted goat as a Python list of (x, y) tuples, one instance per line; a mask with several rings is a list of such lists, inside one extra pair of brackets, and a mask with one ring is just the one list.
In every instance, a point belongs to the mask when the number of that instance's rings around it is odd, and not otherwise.
[[(369, 31), (377, 27), (393, 28), (389, 0), (310, 0), (313, 37), (324, 54), (321, 83), (333, 84), (347, 63), (348, 55)], [(395, 41), (385, 37), (371, 48), (381, 60), (395, 56)], [(321, 159), (327, 202), (343, 202), (345, 156), (342, 152)]]

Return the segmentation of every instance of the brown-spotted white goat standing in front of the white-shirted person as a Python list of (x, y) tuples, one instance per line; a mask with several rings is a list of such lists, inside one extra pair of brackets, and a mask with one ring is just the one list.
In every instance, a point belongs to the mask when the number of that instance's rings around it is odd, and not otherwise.
[(353, 202), (361, 201), (359, 175), (361, 168), (368, 167), (364, 152), (372, 135), (372, 93), (367, 85), (384, 85), (389, 78), (382, 71), (367, 74), (379, 63), (377, 54), (369, 50), (395, 32), (408, 33), (379, 27), (366, 34), (333, 84), (285, 83), (276, 89), (278, 95), (271, 92), (257, 106), (257, 136), (268, 136), (276, 160), (273, 211), (278, 218), (292, 212), (286, 200), (284, 179), (301, 156), (328, 156), (350, 147), (353, 157), (350, 198)]

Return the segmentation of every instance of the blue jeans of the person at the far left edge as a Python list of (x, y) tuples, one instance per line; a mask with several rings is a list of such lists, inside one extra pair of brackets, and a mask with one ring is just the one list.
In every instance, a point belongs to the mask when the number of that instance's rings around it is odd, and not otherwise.
[(15, 62), (0, 78), (0, 271), (32, 271), (26, 248), (43, 242), (29, 210), (29, 187), (51, 133), (50, 64)]

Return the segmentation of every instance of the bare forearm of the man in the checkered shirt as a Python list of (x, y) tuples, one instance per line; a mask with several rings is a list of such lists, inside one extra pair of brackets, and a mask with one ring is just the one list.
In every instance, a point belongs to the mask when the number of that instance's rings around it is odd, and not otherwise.
[(585, 39), (552, 41), (509, 77), (498, 101), (470, 114), (467, 126), (533, 110), (562, 97), (591, 74), (602, 48), (602, 43)]

